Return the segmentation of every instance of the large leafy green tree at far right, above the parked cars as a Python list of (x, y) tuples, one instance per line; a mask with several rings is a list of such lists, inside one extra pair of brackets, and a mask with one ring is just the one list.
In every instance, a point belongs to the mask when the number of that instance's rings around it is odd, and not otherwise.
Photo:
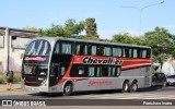
[(144, 35), (145, 44), (152, 47), (153, 60), (163, 62), (166, 57), (175, 57), (175, 36), (163, 27), (155, 27)]

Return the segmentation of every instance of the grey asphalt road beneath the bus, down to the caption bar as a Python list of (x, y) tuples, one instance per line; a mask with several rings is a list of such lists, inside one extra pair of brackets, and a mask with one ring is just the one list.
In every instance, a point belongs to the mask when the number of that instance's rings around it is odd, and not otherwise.
[(79, 92), (73, 96), (40, 95), (35, 92), (4, 92), (0, 93), (0, 99), (175, 99), (175, 86), (150, 87), (139, 89), (136, 93), (120, 93), (120, 90)]

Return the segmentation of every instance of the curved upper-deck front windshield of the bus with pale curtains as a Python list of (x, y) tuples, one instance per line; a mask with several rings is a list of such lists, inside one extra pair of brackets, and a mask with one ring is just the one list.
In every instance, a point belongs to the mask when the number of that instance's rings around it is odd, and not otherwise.
[(25, 50), (25, 56), (49, 56), (49, 53), (50, 44), (43, 39), (32, 41)]

